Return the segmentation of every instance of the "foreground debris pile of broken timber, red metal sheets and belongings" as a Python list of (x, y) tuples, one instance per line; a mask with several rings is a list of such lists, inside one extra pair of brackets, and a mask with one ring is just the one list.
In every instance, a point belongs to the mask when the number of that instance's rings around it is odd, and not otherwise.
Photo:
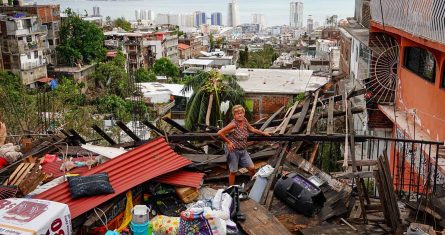
[[(75, 130), (62, 130), (21, 152), (10, 144), (0, 147), (0, 155), (7, 149), (8, 162), (0, 169), (0, 204), (9, 205), (0, 207), (0, 228), (22, 223), (25, 204), (46, 208), (47, 201), (59, 203), (54, 206), (63, 215), (63, 205), (69, 209), (70, 225), (60, 222), (65, 234), (125, 234), (141, 224), (155, 234), (187, 234), (190, 228), (197, 229), (195, 234), (319, 234), (320, 229), (324, 234), (388, 234), (416, 222), (408, 219), (409, 207), (442, 218), (422, 201), (402, 206), (386, 151), (379, 158), (356, 159), (355, 142), (365, 137), (354, 135), (352, 115), (363, 108), (353, 107), (349, 98), (364, 91), (326, 95), (335, 82), (253, 124), (274, 134), (249, 136), (248, 151), (258, 173), (251, 180), (247, 169), (239, 169), (232, 187), (218, 128), (191, 132), (169, 118), (163, 118), (173, 127), (168, 134), (144, 122), (158, 135), (150, 140), (118, 122), (133, 141), (118, 144), (93, 126), (109, 146), (91, 145)], [(322, 170), (326, 161), (345, 171), (334, 177)], [(364, 178), (376, 182), (375, 198)], [(20, 197), (29, 201), (12, 199)], [(33, 216), (27, 218), (29, 224), (36, 224)], [(60, 218), (49, 216), (39, 224), (51, 229)]]

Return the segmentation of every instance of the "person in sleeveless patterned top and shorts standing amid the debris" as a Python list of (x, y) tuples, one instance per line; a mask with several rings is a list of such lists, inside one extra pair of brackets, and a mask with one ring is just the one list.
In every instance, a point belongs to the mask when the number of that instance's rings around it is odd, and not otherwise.
[(244, 117), (245, 110), (241, 105), (232, 108), (233, 120), (218, 131), (218, 136), (226, 142), (227, 163), (229, 164), (229, 185), (235, 184), (235, 176), (238, 172), (238, 165), (247, 167), (249, 175), (255, 174), (255, 166), (247, 152), (247, 136), (249, 132), (269, 136), (269, 133), (260, 131), (252, 127)]

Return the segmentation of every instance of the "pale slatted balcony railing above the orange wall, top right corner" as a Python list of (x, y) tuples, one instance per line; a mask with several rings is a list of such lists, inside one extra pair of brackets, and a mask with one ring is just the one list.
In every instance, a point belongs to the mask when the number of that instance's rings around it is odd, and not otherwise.
[(443, 44), (445, 44), (444, 12), (443, 0), (371, 1), (372, 20)]

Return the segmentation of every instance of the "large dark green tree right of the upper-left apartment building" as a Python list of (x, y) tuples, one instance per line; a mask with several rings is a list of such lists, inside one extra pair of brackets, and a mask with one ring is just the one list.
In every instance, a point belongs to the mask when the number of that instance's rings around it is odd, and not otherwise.
[(67, 17), (62, 21), (60, 44), (56, 48), (58, 56), (70, 66), (79, 62), (102, 61), (106, 54), (102, 30), (69, 8), (65, 13)]

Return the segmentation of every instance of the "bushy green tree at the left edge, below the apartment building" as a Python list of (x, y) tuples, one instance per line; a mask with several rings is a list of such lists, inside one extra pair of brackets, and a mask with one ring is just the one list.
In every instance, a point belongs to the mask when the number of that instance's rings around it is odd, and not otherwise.
[(37, 100), (19, 76), (0, 71), (0, 121), (9, 133), (23, 134), (37, 127)]

